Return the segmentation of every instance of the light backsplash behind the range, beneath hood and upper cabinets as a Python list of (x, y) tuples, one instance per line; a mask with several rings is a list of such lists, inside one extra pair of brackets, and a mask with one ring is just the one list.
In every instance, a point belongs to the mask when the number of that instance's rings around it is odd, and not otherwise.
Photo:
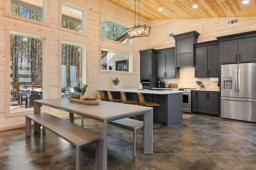
[(165, 78), (166, 84), (178, 83), (178, 88), (196, 88), (196, 81), (204, 84), (204, 89), (217, 90), (218, 82), (211, 82), (210, 78), (195, 78), (195, 67), (180, 67), (180, 78)]

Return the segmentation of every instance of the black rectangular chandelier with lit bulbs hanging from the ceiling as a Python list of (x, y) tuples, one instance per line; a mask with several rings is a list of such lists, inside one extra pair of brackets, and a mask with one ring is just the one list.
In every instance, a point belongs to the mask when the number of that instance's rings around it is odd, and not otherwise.
[(139, 23), (136, 26), (136, 0), (134, 0), (134, 27), (124, 29), (126, 38), (132, 39), (136, 37), (148, 37), (150, 28), (145, 25), (140, 25), (140, 0), (139, 1)]

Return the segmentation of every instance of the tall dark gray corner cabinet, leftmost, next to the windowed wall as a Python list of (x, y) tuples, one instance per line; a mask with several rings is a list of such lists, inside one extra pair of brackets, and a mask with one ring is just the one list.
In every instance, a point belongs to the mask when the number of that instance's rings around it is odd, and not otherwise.
[(152, 82), (151, 87), (156, 87), (156, 52), (155, 49), (140, 51), (140, 80)]

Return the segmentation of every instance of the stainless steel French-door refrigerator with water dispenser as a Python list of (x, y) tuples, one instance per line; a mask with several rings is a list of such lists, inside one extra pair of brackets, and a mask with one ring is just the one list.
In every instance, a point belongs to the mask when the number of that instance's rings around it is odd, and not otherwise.
[(256, 63), (221, 65), (221, 117), (256, 122)]

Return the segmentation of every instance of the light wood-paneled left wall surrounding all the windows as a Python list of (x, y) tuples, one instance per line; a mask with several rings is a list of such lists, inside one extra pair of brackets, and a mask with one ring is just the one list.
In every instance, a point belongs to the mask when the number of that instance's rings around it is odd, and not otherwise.
[[(137, 88), (140, 82), (140, 50), (148, 49), (148, 37), (133, 39), (132, 45), (124, 45), (114, 41), (100, 39), (101, 16), (106, 16), (127, 27), (134, 26), (134, 13), (130, 12), (108, 0), (66, 0), (74, 3), (86, 11), (86, 33), (74, 33), (59, 29), (59, 9), (61, 0), (46, 0), (48, 2), (48, 20), (46, 23), (37, 24), (34, 21), (23, 19), (6, 13), (6, 1), (0, 1), (0, 131), (24, 127), (25, 113), (33, 113), (33, 109), (26, 112), (10, 113), (10, 57), (8, 56), (8, 41), (10, 31), (26, 33), (44, 38), (44, 98), (60, 98), (61, 67), (60, 54), (61, 42), (78, 43), (85, 46), (85, 78), (88, 84), (87, 95), (96, 97), (99, 88), (112, 88), (111, 79), (120, 79), (119, 88)], [(9, 8), (7, 6), (7, 8)], [(8, 10), (7, 10), (8, 11)], [(141, 18), (141, 24), (145, 23)], [(133, 57), (132, 73), (101, 72), (101, 48), (130, 53)], [(52, 114), (67, 117), (68, 113), (54, 111)], [(22, 115), (23, 114), (23, 115)], [(18, 116), (20, 115), (20, 116)]]

